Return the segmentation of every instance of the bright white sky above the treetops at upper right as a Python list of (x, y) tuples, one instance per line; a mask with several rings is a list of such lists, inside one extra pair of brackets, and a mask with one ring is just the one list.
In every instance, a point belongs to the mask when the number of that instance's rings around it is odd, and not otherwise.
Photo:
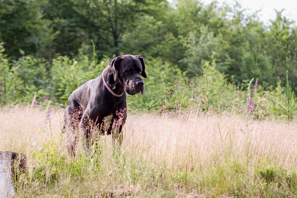
[[(204, 4), (210, 4), (212, 0), (202, 0)], [(219, 3), (227, 2), (228, 5), (234, 5), (234, 0), (217, 0)], [(250, 13), (261, 9), (262, 11), (258, 13), (260, 20), (265, 24), (269, 22), (269, 19), (275, 19), (276, 14), (274, 9), (283, 11), (285, 15), (290, 20), (297, 22), (297, 0), (238, 0), (238, 3), (242, 8), (249, 9)], [(248, 12), (248, 11), (247, 11)], [(295, 23), (297, 24), (297, 23)]]

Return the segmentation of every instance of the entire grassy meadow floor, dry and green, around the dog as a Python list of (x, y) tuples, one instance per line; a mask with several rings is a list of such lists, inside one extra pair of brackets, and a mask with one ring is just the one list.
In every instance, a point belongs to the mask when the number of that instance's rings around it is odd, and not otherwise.
[(297, 121), (189, 108), (128, 112), (121, 148), (102, 136), (75, 159), (64, 109), (4, 107), (0, 150), (25, 153), (17, 197), (296, 197)]

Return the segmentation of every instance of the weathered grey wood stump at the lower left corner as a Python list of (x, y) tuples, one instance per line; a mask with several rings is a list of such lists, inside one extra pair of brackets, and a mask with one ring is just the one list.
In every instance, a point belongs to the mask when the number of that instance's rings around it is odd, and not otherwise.
[(0, 151), (0, 198), (15, 197), (12, 178), (26, 170), (26, 155)]

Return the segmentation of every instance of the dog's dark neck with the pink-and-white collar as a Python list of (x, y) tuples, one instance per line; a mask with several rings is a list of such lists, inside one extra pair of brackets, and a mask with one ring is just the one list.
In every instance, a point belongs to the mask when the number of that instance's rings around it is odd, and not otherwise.
[(116, 79), (114, 81), (113, 73), (110, 69), (110, 67), (106, 67), (104, 70), (104, 80), (108, 87), (115, 93), (121, 95), (124, 92), (124, 85), (119, 81), (119, 79)]

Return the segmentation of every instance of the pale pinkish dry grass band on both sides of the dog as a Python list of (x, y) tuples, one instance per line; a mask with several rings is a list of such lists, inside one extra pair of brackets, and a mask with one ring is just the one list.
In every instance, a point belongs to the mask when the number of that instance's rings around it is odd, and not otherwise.
[[(63, 109), (52, 110), (48, 121), (47, 111), (38, 107), (3, 108), (0, 113), (0, 151), (26, 153), (29, 166), (33, 166), (36, 163), (32, 156), (33, 151), (49, 140), (61, 137), (54, 140), (58, 144), (55, 152), (66, 154), (67, 137), (66, 134), (61, 134), (63, 114)], [(294, 169), (297, 165), (296, 127), (296, 120), (290, 123), (280, 120), (250, 120), (246, 127), (244, 116), (230, 113), (128, 113), (121, 155), (125, 156), (130, 165), (125, 164), (124, 170), (138, 170), (132, 166), (148, 164), (151, 167), (166, 167), (171, 173), (174, 170), (197, 172), (204, 174), (204, 178), (200, 179), (205, 184), (206, 176), (209, 177), (208, 170), (229, 162), (241, 164), (251, 173), (263, 160)], [(116, 175), (119, 174), (116, 171), (118, 165), (111, 160), (110, 139), (109, 136), (100, 139), (103, 145), (100, 160), (104, 164), (101, 179), (105, 181), (105, 189), (110, 188), (106, 183), (111, 180), (114, 185), (119, 185), (121, 182), (117, 177), (124, 182), (128, 180), (127, 175)], [(80, 152), (81, 142), (79, 144)], [(128, 175), (132, 177), (133, 174), (130, 172)], [(85, 177), (89, 178), (86, 175)], [(88, 179), (84, 185), (96, 189), (96, 177)], [(66, 178), (64, 183), (70, 180)], [(131, 180), (133, 179), (130, 178), (127, 183), (131, 183)], [(67, 188), (71, 189), (69, 185)], [(79, 188), (76, 186), (76, 189)], [(84, 195), (90, 193), (90, 189), (88, 190), (83, 190)], [(76, 193), (79, 194), (79, 190)]]

